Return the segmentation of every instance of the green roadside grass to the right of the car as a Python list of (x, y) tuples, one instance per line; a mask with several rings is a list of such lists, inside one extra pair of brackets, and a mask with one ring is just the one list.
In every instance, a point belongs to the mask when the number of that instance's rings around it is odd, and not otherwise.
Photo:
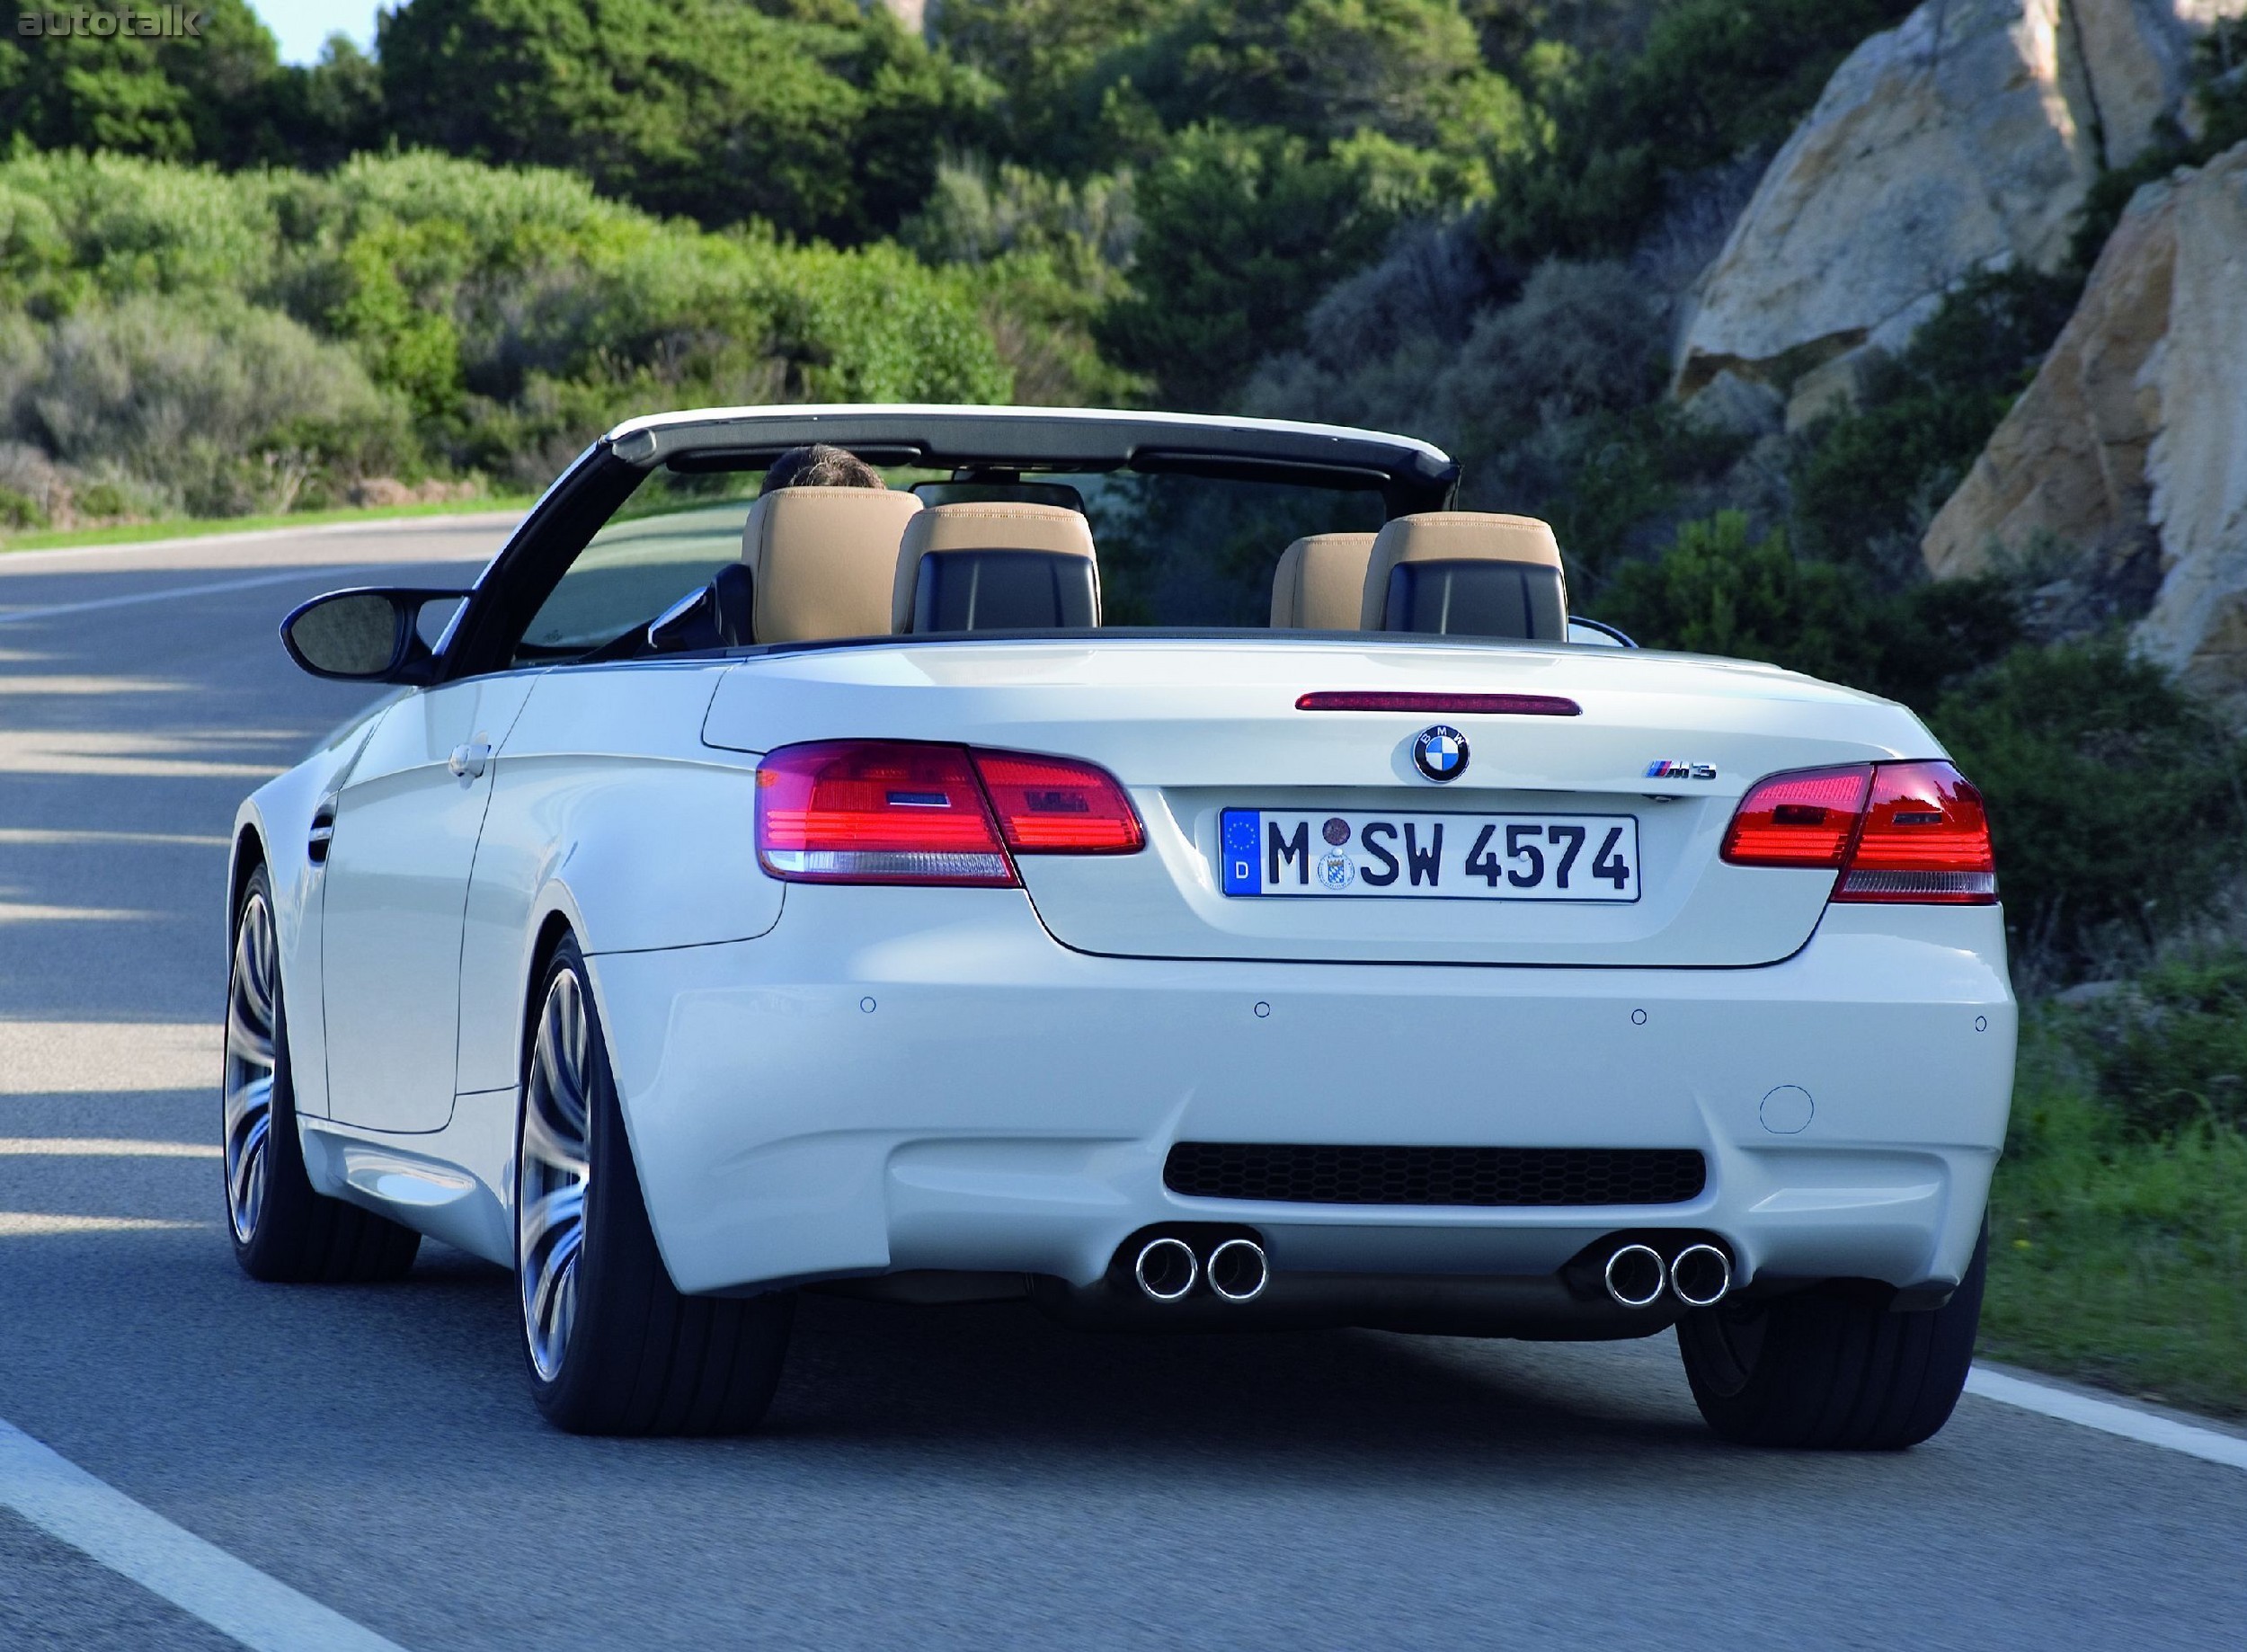
[(2130, 1133), (2029, 1018), (1991, 1191), (1982, 1353), (2247, 1416), (2247, 1135)]

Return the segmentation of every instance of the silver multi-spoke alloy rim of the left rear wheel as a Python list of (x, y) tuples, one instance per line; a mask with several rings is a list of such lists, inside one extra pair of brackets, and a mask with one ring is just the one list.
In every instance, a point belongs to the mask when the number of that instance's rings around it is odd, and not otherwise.
[(539, 1011), (524, 1086), (524, 1144), (515, 1182), (515, 1254), (524, 1292), (524, 1337), (542, 1382), (568, 1353), (577, 1313), (577, 1259), (584, 1254), (589, 1178), (586, 1088), (591, 1029), (577, 973), (555, 973)]

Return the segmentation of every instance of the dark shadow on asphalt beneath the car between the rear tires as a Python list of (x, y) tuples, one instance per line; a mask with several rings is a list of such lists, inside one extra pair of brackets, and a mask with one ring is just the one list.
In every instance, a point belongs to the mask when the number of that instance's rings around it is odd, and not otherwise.
[(1654, 1349), (1602, 1358), (1616, 1353), (1371, 1331), (1103, 1333), (1027, 1304), (804, 1297), (766, 1427), (777, 1441), (1043, 1441), (1211, 1472), (1238, 1459), (1258, 1479), (1290, 1459), (1319, 1479), (1353, 1461), (1382, 1479), (1407, 1465), (1474, 1477), (1485, 1454), (1705, 1438), (1674, 1364), (1643, 1358)]

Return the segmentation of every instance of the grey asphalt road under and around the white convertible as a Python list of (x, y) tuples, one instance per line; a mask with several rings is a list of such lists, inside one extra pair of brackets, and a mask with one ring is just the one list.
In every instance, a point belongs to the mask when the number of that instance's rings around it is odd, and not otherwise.
[[(539, 1423), (494, 1268), (243, 1279), (225, 832), (364, 701), (274, 620), (497, 539), (0, 555), (0, 1418), (422, 1650), (2247, 1645), (2247, 1474), (1977, 1398), (1899, 1456), (1730, 1450), (1667, 1337), (807, 1301), (764, 1434), (629, 1443)], [(0, 1645), (227, 1641), (0, 1510)]]

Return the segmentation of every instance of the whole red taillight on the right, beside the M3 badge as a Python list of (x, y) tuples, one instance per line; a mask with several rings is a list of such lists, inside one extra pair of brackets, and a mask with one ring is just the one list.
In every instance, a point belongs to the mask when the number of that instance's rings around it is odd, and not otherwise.
[(1759, 780), (1732, 811), (1723, 859), (1840, 872), (1836, 901), (1998, 899), (1982, 793), (1948, 762), (1800, 769)]

